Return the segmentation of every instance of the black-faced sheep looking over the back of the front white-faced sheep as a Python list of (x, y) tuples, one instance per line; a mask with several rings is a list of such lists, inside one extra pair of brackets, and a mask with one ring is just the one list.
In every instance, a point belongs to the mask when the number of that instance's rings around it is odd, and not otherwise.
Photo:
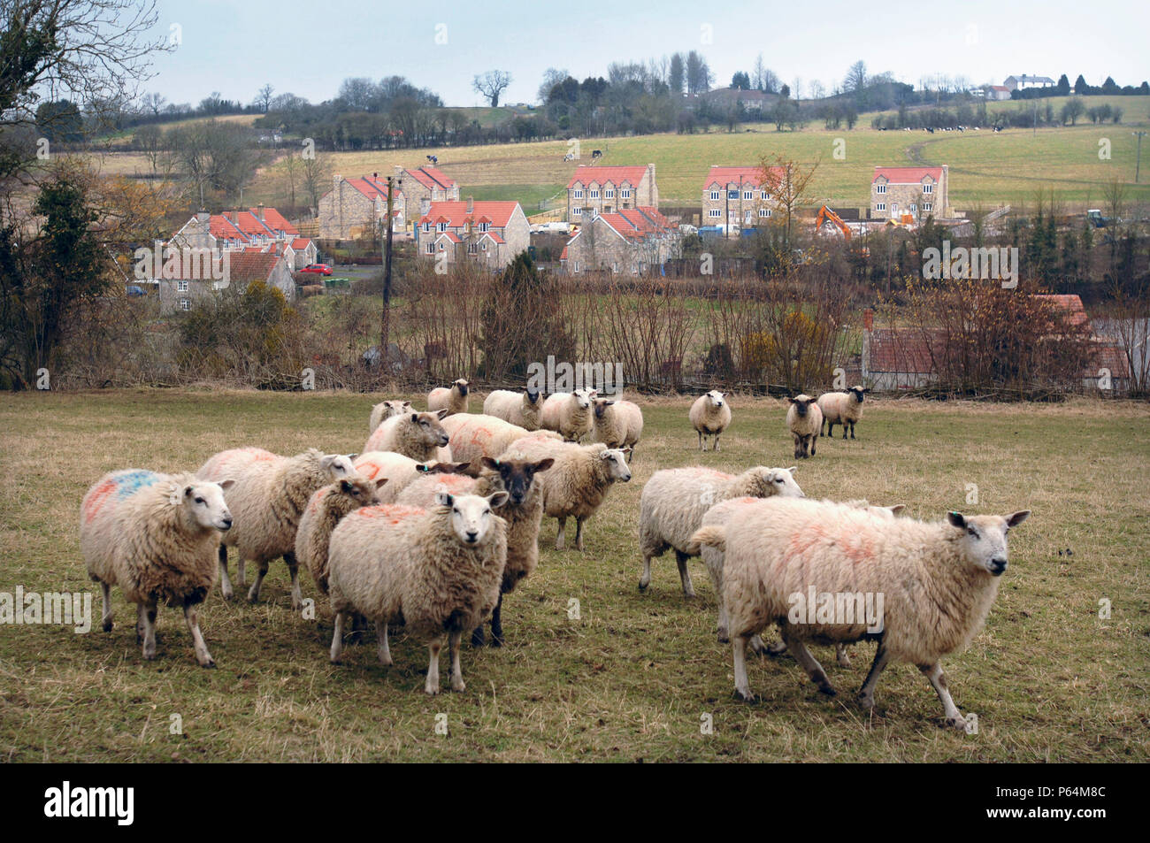
[[(483, 473), (478, 477), (462, 475), (427, 476), (414, 481), (396, 503), (406, 506), (430, 507), (435, 496), (447, 492), (486, 496), (505, 491), (511, 498), (499, 516), (507, 522), (507, 562), (499, 587), (499, 601), (491, 613), (491, 644), (503, 646), (503, 596), (513, 591), (520, 580), (529, 576), (539, 564), (539, 523), (543, 521), (543, 495), (535, 476), (554, 465), (554, 459), (494, 460), (483, 458)], [(483, 646), (483, 624), (471, 634), (471, 644)]]

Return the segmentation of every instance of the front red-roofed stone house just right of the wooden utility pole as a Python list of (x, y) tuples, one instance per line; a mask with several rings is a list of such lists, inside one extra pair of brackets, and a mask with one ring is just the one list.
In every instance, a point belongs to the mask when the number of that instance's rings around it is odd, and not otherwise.
[(531, 243), (531, 227), (515, 201), (425, 202), (415, 222), (415, 248), (437, 266), (470, 260), (503, 269)]

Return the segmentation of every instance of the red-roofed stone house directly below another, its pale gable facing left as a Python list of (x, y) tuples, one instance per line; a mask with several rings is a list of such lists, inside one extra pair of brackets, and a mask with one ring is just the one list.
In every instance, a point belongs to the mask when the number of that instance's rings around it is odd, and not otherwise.
[(678, 227), (650, 206), (598, 214), (567, 242), (559, 261), (572, 275), (643, 275), (683, 254)]

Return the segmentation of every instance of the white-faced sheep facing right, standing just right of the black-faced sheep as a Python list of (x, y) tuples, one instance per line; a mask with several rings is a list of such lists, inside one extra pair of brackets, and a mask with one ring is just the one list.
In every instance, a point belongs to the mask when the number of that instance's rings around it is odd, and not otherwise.
[(499, 455), (504, 460), (554, 459), (540, 478), (543, 512), (559, 522), (555, 550), (564, 550), (567, 519), (575, 519), (575, 546), (583, 550), (583, 523), (595, 515), (618, 481), (627, 483), (631, 469), (626, 449), (608, 449), (603, 443), (575, 445), (542, 436), (516, 440)]

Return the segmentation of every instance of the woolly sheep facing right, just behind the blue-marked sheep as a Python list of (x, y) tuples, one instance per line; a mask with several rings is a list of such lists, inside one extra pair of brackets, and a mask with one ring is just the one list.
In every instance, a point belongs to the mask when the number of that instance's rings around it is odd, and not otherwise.
[[(195, 473), (201, 480), (235, 480), (228, 492), (228, 506), (235, 515), (232, 528), (220, 543), (220, 591), (232, 598), (228, 577), (228, 547), (239, 551), (239, 583), (244, 584), (247, 560), (259, 565), (255, 582), (247, 599), (260, 599), (260, 588), (268, 565), (283, 557), (291, 573), (291, 605), (302, 606), (299, 590), (299, 565), (296, 561), (296, 528), (312, 493), (320, 486), (355, 474), (351, 458), (324, 454), (314, 447), (294, 457), (277, 457), (262, 452), (248, 459), (251, 450), (224, 451), (209, 458)], [(270, 459), (269, 459), (270, 457)]]

